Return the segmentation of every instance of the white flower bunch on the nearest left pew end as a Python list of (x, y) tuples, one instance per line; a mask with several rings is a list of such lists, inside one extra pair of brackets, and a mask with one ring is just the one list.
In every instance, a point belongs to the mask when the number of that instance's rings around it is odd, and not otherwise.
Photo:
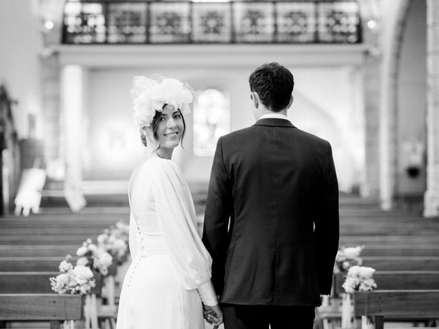
[(84, 265), (73, 267), (70, 255), (60, 263), (60, 272), (58, 276), (49, 278), (52, 290), (57, 293), (85, 295), (95, 287), (91, 269)]

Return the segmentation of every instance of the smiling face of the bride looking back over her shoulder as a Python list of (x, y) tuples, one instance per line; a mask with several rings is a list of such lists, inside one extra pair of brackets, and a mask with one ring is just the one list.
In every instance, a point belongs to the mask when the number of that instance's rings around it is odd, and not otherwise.
[(182, 115), (174, 106), (165, 106), (156, 130), (160, 147), (173, 149), (178, 146), (185, 130)]

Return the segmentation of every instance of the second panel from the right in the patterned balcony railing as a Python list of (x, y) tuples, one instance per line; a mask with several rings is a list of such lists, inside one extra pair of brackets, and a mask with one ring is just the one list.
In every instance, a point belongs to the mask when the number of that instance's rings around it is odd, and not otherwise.
[(276, 3), (277, 41), (313, 42), (316, 39), (316, 3)]

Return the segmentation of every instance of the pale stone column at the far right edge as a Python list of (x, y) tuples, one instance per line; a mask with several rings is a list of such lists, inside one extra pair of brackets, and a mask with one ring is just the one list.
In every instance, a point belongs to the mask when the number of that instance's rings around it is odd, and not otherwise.
[(424, 216), (439, 215), (439, 2), (427, 0), (427, 192)]

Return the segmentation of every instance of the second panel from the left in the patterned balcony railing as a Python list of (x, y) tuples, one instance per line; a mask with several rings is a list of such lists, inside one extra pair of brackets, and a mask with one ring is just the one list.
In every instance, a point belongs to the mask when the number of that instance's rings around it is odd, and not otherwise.
[(108, 42), (146, 42), (146, 3), (109, 3)]

